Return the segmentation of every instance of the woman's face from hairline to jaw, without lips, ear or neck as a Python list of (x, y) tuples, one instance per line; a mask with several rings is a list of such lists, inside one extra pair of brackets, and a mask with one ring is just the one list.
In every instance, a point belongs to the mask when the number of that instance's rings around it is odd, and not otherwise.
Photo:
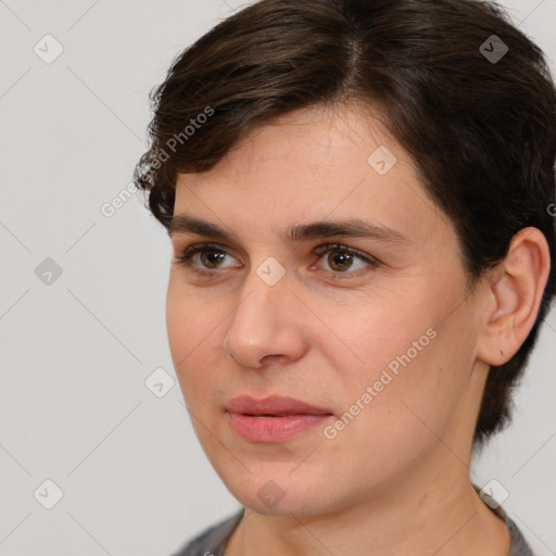
[[(173, 262), (172, 357), (211, 464), (261, 514), (392, 501), (434, 488), (438, 469), (468, 476), (486, 368), (475, 356), (478, 300), (409, 156), (365, 122), (355, 108), (290, 113), (177, 184), (175, 255), (212, 247)], [(185, 215), (228, 236), (187, 231)], [(355, 219), (378, 232), (287, 235)], [(331, 415), (290, 437), (271, 424), (273, 438), (241, 435), (230, 400), (273, 394)], [(255, 432), (270, 422), (253, 419)]]

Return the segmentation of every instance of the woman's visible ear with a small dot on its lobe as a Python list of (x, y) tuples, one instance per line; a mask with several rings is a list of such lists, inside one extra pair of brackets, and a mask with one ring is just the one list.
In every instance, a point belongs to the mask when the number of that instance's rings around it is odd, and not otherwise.
[(542, 231), (533, 227), (519, 230), (506, 257), (488, 278), (479, 359), (498, 366), (517, 353), (536, 320), (549, 270), (549, 248)]

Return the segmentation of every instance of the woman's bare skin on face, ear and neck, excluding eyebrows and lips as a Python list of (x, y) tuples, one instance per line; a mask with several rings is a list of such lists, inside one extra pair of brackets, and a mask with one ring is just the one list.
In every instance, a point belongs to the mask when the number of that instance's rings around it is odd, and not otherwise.
[[(379, 146), (397, 159), (384, 175), (367, 162)], [(179, 176), (178, 214), (237, 235), (172, 235), (176, 256), (205, 241), (226, 256), (210, 266), (208, 248), (189, 267), (173, 261), (166, 307), (195, 433), (247, 508), (226, 556), (507, 554), (506, 526), (470, 483), (471, 441), (489, 364), (507, 361), (534, 324), (549, 269), (542, 233), (521, 230), (470, 293), (450, 220), (408, 154), (355, 104), (251, 130), (212, 170)], [(353, 217), (410, 243), (281, 237)], [(354, 257), (342, 271), (336, 248), (315, 254), (337, 242), (379, 266)], [(274, 286), (256, 274), (269, 256), (286, 271)], [(430, 329), (428, 345), (333, 439), (320, 426), (252, 443), (228, 424), (224, 406), (240, 394), (296, 397), (329, 408), (333, 424)], [(270, 480), (283, 493), (273, 507), (257, 495)]]

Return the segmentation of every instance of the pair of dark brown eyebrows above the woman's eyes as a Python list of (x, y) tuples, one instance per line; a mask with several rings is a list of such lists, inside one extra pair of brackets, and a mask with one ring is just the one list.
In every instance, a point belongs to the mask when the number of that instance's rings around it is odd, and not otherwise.
[[(194, 233), (219, 240), (239, 241), (233, 231), (187, 214), (175, 215), (167, 231), (170, 237), (180, 233)], [(414, 244), (414, 241), (400, 231), (361, 218), (299, 224), (289, 227), (282, 235), (285, 240), (291, 242), (331, 237), (370, 238), (387, 243)]]

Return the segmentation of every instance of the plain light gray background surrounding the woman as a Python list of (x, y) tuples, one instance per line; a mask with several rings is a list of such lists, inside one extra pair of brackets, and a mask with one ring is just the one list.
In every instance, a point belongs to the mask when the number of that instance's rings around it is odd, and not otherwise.
[[(554, 68), (556, 0), (505, 4)], [(172, 387), (169, 241), (142, 195), (101, 207), (146, 148), (149, 90), (240, 5), (0, 0), (2, 556), (168, 555), (239, 507)], [(49, 64), (47, 34), (64, 49)], [(513, 426), (473, 464), (540, 555), (556, 554), (555, 334), (552, 312)]]

